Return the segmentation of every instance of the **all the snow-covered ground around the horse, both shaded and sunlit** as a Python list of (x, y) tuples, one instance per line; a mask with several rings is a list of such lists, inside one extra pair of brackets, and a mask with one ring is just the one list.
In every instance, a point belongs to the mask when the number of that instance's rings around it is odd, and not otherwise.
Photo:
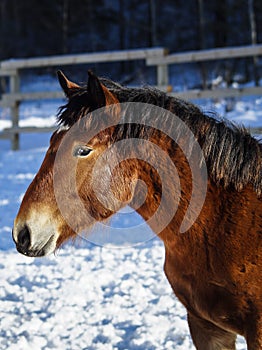
[[(52, 125), (61, 103), (23, 104), (21, 125)], [(261, 126), (261, 106), (262, 98), (238, 101), (228, 116)], [(224, 114), (223, 103), (205, 109)], [(0, 129), (8, 116), (0, 110)], [(15, 251), (12, 222), (49, 136), (23, 135), (18, 152), (0, 141), (0, 349), (194, 349), (157, 238), (121, 249), (83, 242), (41, 259)], [(237, 349), (246, 349), (242, 338)]]

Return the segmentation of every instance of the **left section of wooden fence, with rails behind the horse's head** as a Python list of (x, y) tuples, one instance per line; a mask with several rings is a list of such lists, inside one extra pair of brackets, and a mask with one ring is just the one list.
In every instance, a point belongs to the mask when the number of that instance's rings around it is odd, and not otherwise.
[[(57, 69), (64, 65), (87, 64), (98, 62), (117, 62), (130, 60), (147, 60), (160, 58), (166, 55), (164, 48), (146, 48), (125, 51), (111, 51), (99, 53), (85, 53), (76, 55), (50, 56), (41, 58), (14, 59), (0, 63), (0, 76), (7, 76), (10, 80), (10, 92), (1, 96), (0, 106), (9, 107), (11, 111), (12, 127), (4, 130), (0, 138), (10, 138), (12, 149), (19, 149), (19, 134), (23, 132), (46, 132), (52, 128), (22, 128), (19, 127), (19, 104), (27, 100), (56, 99), (64, 95), (61, 91), (55, 92), (28, 92), (20, 91), (20, 72), (24, 69), (50, 67)], [(163, 80), (163, 67), (157, 67), (158, 85)]]

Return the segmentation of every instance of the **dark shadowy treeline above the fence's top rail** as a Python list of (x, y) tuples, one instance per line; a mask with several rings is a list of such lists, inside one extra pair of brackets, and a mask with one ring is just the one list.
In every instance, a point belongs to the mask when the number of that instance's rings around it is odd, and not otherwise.
[(0, 0), (0, 60), (261, 41), (261, 0)]

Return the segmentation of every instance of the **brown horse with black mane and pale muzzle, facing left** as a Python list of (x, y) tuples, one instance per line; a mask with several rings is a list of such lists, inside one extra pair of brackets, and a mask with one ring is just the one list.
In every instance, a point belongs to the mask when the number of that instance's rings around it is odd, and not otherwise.
[[(240, 334), (249, 350), (262, 349), (259, 141), (244, 128), (207, 116), (196, 106), (156, 89), (125, 88), (98, 79), (92, 72), (85, 87), (70, 82), (61, 72), (58, 77), (68, 98), (58, 115), (63, 127), (52, 135), (43, 164), (15, 219), (17, 250), (27, 256), (50, 254), (87, 226), (107, 220), (129, 204), (164, 242), (164, 271), (187, 308), (196, 348), (235, 349), (236, 335)], [(118, 123), (129, 108), (122, 109), (126, 102), (161, 107), (192, 130), (205, 160), (206, 187), (201, 181), (197, 186), (192, 183), (195, 170), (191, 164), (198, 168), (201, 161), (190, 163), (185, 155), (184, 150), (190, 149), (186, 148), (189, 134), (169, 120), (170, 131), (180, 128), (179, 141), (174, 140), (167, 132), (143, 123), (143, 115), (141, 124), (130, 120)], [(97, 115), (99, 108), (103, 112)], [(165, 114), (149, 114), (163, 126), (167, 123)], [(145, 143), (127, 147), (125, 152), (128, 149), (130, 154), (121, 158), (114, 145), (133, 139)], [(156, 147), (162, 150), (157, 151), (160, 157), (155, 156)], [(175, 170), (167, 167), (170, 160)], [(105, 163), (106, 170), (100, 171)], [(105, 184), (107, 176), (110, 186)], [(137, 186), (137, 179), (146, 184), (146, 193)], [(197, 212), (193, 222), (181, 232), (194, 188), (197, 203), (202, 192), (205, 198), (193, 209), (193, 216)], [(138, 192), (143, 192), (143, 203), (137, 200)], [(168, 204), (150, 221), (164, 195)], [(176, 210), (170, 218), (172, 206)], [(87, 213), (86, 220), (81, 210)]]

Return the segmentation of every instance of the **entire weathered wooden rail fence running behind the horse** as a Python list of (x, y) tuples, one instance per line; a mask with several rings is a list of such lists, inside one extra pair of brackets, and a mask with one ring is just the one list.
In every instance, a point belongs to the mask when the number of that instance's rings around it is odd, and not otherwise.
[[(55, 66), (58, 69), (63, 65), (87, 64), (98, 62), (117, 62), (130, 60), (145, 60), (147, 66), (156, 67), (157, 86), (165, 89), (169, 94), (186, 99), (241, 97), (245, 95), (262, 95), (262, 87), (224, 88), (209, 90), (189, 90), (172, 92), (169, 85), (168, 66), (186, 62), (203, 62), (210, 60), (232, 59), (241, 57), (262, 56), (262, 45), (230, 47), (191, 51), (185, 53), (168, 54), (164, 48), (145, 48), (136, 50), (86, 53), (76, 55), (50, 56), (41, 58), (14, 59), (0, 63), (0, 77), (9, 78), (9, 93), (1, 96), (0, 106), (8, 107), (11, 111), (12, 126), (0, 133), (0, 138), (11, 139), (12, 149), (19, 148), (19, 134), (28, 132), (50, 132), (51, 128), (19, 127), (19, 104), (27, 100), (58, 99), (63, 97), (60, 91), (28, 92), (20, 91), (20, 73), (24, 69)], [(262, 132), (261, 128), (256, 130)]]

